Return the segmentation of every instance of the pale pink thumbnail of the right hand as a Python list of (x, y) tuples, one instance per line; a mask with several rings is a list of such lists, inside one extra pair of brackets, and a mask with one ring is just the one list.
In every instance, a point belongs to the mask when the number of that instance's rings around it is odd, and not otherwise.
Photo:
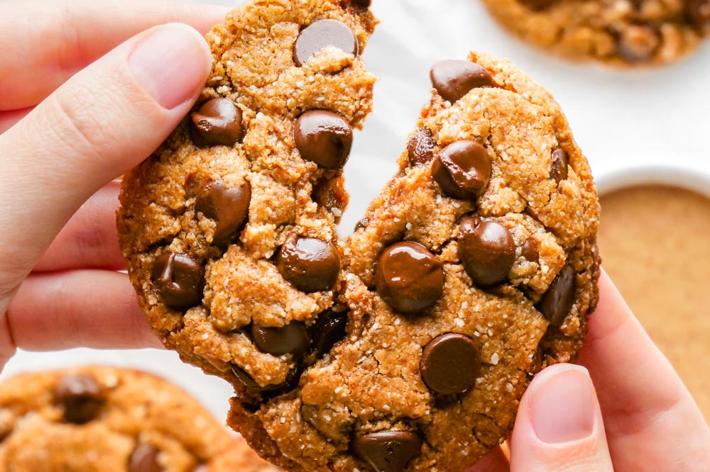
[(544, 378), (530, 399), (530, 420), (537, 438), (561, 444), (589, 437), (597, 408), (592, 388), (584, 370), (565, 370)]

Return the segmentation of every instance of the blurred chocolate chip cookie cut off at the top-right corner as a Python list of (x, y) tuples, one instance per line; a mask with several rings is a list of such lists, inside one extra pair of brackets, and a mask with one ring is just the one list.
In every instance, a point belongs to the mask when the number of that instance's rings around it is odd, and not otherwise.
[(575, 60), (668, 64), (710, 31), (708, 0), (484, 0), (523, 40)]

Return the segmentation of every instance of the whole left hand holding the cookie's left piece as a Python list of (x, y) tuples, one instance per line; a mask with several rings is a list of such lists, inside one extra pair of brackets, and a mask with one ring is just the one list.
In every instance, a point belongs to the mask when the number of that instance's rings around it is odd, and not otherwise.
[[(111, 181), (195, 103), (212, 63), (201, 33), (225, 13), (140, 0), (0, 4), (0, 368), (16, 347), (160, 345), (118, 272)], [(168, 22), (197, 30), (155, 26)]]

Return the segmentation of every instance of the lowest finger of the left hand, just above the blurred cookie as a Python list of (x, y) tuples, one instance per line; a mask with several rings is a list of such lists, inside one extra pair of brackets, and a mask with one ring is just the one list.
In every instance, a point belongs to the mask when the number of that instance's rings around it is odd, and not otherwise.
[(29, 351), (160, 347), (128, 276), (120, 272), (29, 276), (6, 318), (16, 346)]

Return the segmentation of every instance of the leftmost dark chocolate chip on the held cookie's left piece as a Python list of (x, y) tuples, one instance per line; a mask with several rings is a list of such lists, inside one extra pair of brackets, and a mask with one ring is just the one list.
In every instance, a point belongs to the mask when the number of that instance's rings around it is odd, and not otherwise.
[(155, 259), (153, 282), (163, 303), (175, 310), (186, 310), (202, 301), (204, 269), (184, 254), (166, 252)]

